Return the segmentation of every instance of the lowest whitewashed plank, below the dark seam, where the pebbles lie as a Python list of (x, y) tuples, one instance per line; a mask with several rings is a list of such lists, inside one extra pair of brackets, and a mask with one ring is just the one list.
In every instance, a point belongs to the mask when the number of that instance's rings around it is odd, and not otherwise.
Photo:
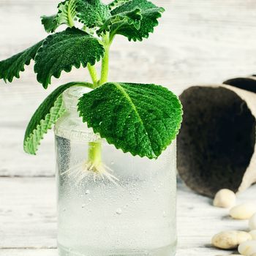
[[(256, 186), (239, 195), (238, 203), (256, 203), (255, 192)], [(26, 248), (28, 255), (54, 255), (54, 250), (39, 249), (56, 248), (55, 198), (54, 178), (0, 179), (0, 255), (23, 255)], [(246, 221), (230, 219), (227, 213), (179, 184), (178, 256), (230, 254), (210, 246), (215, 233), (247, 229)]]

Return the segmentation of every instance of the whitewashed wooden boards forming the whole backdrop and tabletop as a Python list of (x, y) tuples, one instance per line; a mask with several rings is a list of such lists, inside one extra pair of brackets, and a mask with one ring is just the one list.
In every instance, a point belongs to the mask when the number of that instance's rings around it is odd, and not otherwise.
[[(0, 0), (0, 59), (46, 37), (39, 16), (52, 14), (57, 2)], [(117, 39), (110, 80), (159, 83), (179, 94), (187, 86), (256, 72), (255, 0), (155, 2), (167, 9), (161, 26), (143, 43)], [(57, 255), (53, 133), (45, 136), (37, 157), (23, 153), (23, 134), (50, 91), (86, 79), (83, 69), (73, 69), (45, 91), (28, 67), (12, 85), (0, 81), (0, 256)], [(238, 200), (253, 201), (255, 195), (252, 187)], [(246, 221), (230, 219), (227, 210), (179, 183), (178, 256), (228, 255), (211, 248), (211, 236), (234, 228), (246, 229)]]

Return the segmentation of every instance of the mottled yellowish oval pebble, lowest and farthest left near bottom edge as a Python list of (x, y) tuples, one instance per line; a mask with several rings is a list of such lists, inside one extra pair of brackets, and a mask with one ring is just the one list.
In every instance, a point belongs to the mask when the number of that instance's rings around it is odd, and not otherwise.
[(252, 236), (244, 231), (224, 231), (211, 239), (211, 244), (220, 249), (236, 249), (244, 241), (252, 240)]

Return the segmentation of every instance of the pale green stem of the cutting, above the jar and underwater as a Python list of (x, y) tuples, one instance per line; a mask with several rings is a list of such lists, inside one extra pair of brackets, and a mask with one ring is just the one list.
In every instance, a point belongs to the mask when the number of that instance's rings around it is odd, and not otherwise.
[[(106, 34), (102, 38), (103, 45), (105, 47), (105, 56), (102, 59), (102, 71), (101, 71), (101, 77), (99, 79), (99, 83), (94, 83), (94, 81), (97, 80), (97, 75), (95, 76), (96, 70), (91, 69), (89, 67), (89, 72), (91, 74), (91, 79), (93, 80), (95, 88), (102, 86), (102, 84), (107, 83), (108, 81), (108, 68), (109, 68), (109, 50), (110, 50), (110, 35), (109, 33)], [(102, 143), (101, 142), (90, 142), (89, 143), (89, 154), (88, 154), (88, 160), (91, 163), (91, 165), (99, 165), (102, 161)]]

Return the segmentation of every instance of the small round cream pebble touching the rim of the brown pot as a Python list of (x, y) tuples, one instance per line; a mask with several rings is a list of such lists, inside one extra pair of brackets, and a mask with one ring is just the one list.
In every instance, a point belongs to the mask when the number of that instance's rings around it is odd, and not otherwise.
[(230, 208), (236, 205), (236, 194), (230, 189), (220, 189), (214, 197), (214, 206)]

